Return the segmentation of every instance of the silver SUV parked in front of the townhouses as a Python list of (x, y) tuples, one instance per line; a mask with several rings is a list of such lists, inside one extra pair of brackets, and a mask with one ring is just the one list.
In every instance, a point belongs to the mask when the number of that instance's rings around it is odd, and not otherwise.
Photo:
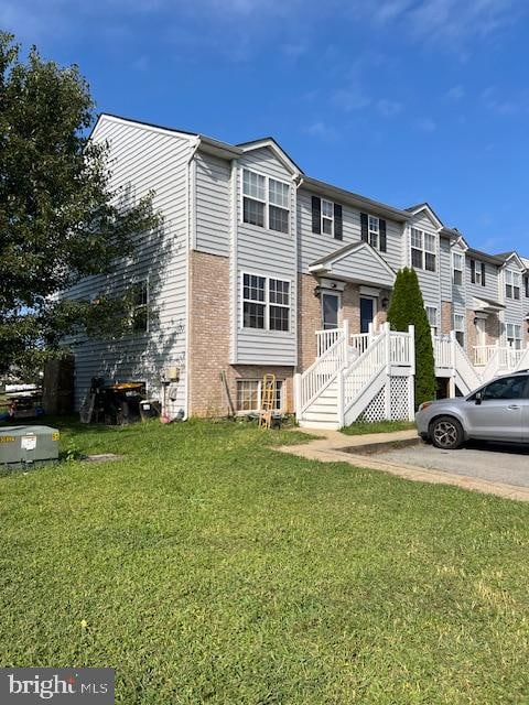
[(471, 438), (529, 443), (529, 371), (497, 377), (468, 397), (427, 401), (415, 422), (438, 448), (455, 449)]

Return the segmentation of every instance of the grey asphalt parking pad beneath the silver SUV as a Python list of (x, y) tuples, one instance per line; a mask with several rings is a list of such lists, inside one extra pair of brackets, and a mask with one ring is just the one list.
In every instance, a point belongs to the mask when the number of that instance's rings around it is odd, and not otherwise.
[(529, 448), (472, 444), (458, 451), (440, 451), (431, 445), (417, 445), (377, 453), (373, 456), (391, 465), (441, 470), (489, 482), (529, 487)]

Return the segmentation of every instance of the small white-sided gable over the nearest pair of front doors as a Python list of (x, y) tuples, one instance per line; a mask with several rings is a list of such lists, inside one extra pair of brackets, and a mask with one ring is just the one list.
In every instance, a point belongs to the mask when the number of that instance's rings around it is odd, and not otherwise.
[(353, 242), (321, 257), (309, 265), (313, 274), (336, 275), (357, 283), (391, 289), (396, 272), (368, 242)]

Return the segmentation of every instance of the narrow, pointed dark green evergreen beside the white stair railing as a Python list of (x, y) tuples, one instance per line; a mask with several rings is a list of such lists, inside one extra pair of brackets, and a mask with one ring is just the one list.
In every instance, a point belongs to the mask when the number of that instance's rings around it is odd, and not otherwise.
[(415, 406), (419, 406), (434, 398), (436, 383), (432, 333), (414, 269), (404, 267), (397, 272), (388, 322), (393, 330), (415, 326)]

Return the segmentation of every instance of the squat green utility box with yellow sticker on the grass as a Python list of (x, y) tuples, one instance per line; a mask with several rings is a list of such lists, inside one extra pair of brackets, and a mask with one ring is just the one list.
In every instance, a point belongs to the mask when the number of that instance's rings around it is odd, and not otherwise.
[(57, 460), (58, 436), (50, 426), (0, 427), (0, 468)]

